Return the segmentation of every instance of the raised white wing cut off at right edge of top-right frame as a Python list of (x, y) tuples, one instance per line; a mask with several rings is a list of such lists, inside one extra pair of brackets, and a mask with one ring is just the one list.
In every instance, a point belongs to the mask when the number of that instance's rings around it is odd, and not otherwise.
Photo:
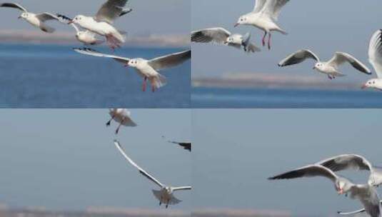
[(376, 31), (371, 36), (368, 46), (368, 61), (373, 65), (379, 79), (382, 79), (382, 30)]

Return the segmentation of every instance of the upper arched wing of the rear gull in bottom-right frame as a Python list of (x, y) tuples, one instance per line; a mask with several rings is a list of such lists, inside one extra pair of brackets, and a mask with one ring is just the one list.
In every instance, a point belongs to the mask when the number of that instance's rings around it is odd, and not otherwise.
[(338, 156), (334, 156), (332, 158), (327, 158), (323, 161), (320, 161), (316, 164), (320, 164), (329, 168), (331, 171), (343, 171), (348, 169), (353, 170), (367, 170), (372, 171), (373, 166), (371, 163), (366, 160), (363, 156), (359, 156), (356, 154), (341, 154)]

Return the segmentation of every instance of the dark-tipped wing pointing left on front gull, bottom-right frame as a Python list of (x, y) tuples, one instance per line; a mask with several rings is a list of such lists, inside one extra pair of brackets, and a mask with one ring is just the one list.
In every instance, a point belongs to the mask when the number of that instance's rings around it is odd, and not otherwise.
[(297, 168), (293, 171), (288, 171), (277, 176), (268, 178), (269, 180), (275, 179), (289, 179), (289, 178), (301, 178), (301, 177), (314, 177), (314, 176), (323, 176), (329, 178), (331, 181), (335, 182), (337, 176), (330, 169), (321, 166), (321, 165), (308, 165), (301, 168)]

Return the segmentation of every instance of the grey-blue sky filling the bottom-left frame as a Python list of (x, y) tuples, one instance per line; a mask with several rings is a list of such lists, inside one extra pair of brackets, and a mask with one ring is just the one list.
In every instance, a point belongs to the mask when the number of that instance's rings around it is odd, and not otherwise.
[[(1, 110), (0, 203), (56, 210), (89, 206), (159, 208), (151, 189), (114, 147), (119, 139), (131, 158), (162, 183), (191, 184), (191, 154), (166, 143), (191, 139), (188, 109), (131, 109), (136, 128), (106, 128), (107, 109)], [(191, 192), (175, 209), (190, 210)], [(163, 208), (163, 207), (162, 207)]]

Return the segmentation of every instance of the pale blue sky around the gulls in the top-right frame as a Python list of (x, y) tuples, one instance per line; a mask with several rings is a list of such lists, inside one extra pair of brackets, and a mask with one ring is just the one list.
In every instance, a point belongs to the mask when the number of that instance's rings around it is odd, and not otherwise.
[[(263, 32), (251, 26), (233, 28), (239, 16), (253, 9), (253, 0), (192, 1), (192, 29), (221, 26), (234, 33), (252, 33), (252, 41), (260, 45)], [(368, 64), (367, 46), (371, 35), (380, 29), (379, 9), (382, 1), (289, 1), (282, 9), (278, 24), (287, 36), (274, 33), (271, 51), (262, 48), (258, 54), (247, 55), (231, 47), (213, 44), (193, 44), (193, 77), (221, 76), (223, 74), (288, 74), (316, 76), (313, 62), (280, 69), (277, 64), (298, 49), (312, 49), (322, 60), (328, 60), (335, 51), (344, 51)], [(371, 66), (370, 66), (371, 67)], [(341, 68), (347, 76), (333, 82), (364, 82), (371, 76), (358, 73), (351, 66)]]

